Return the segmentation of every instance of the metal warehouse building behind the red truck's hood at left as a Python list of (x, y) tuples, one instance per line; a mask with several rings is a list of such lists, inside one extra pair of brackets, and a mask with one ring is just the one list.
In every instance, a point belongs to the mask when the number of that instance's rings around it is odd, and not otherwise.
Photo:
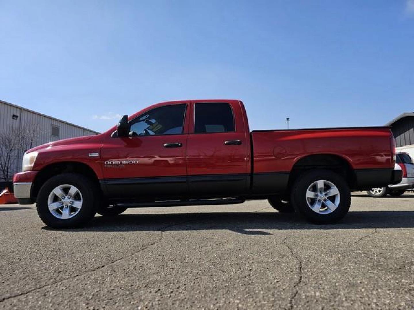
[[(31, 135), (33, 141), (29, 143), (27, 148), (65, 138), (98, 134), (91, 129), (0, 100), (0, 137), (4, 138), (7, 133), (10, 136), (11, 132), (26, 132), (27, 135)], [(5, 153), (4, 144), (0, 148), (0, 152)], [(23, 152), (22, 147), (13, 152), (11, 158), (13, 174), (21, 170)], [(4, 180), (1, 173), (0, 181), (7, 181)]]

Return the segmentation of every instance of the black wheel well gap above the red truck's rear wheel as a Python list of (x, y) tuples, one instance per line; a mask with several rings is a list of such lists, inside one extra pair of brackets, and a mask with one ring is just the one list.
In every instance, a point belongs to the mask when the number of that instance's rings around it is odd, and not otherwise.
[(289, 175), (288, 188), (291, 188), (291, 185), (303, 172), (312, 169), (328, 169), (342, 175), (351, 189), (356, 184), (354, 169), (347, 160), (338, 155), (315, 154), (303, 157), (295, 163)]

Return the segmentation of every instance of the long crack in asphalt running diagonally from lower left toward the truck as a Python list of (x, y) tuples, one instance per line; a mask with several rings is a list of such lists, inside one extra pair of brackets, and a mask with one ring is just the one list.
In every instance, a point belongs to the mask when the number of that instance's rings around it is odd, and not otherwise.
[(152, 242), (152, 243), (147, 244), (147, 246), (144, 246), (143, 248), (140, 248), (140, 249), (139, 249), (139, 250), (137, 250), (136, 252), (134, 252), (134, 253), (132, 253), (132, 254), (128, 255), (127, 257), (118, 258), (118, 259), (116, 259), (116, 260), (113, 260), (112, 262), (108, 262), (108, 263), (107, 263), (107, 264), (105, 264), (105, 265), (101, 265), (101, 266), (98, 266), (98, 267), (96, 267), (96, 268), (93, 268), (93, 269), (87, 270), (87, 271), (85, 271), (85, 272), (84, 272), (84, 273), (82, 273), (82, 274), (76, 274), (76, 275), (75, 275), (75, 276), (73, 276), (73, 277), (67, 277), (67, 278), (65, 278), (65, 279), (60, 279), (60, 280), (57, 280), (57, 281), (53, 281), (53, 282), (51, 282), (51, 283), (48, 283), (48, 284), (45, 284), (45, 285), (42, 285), (42, 286), (36, 287), (36, 288), (34, 288), (34, 289), (30, 289), (29, 291), (26, 291), (26, 292), (23, 292), (23, 293), (19, 293), (19, 294), (16, 294), (16, 295), (11, 295), (11, 296), (6, 296), (6, 297), (3, 297), (3, 298), (0, 298), (0, 303), (4, 302), (4, 301), (6, 301), (6, 300), (9, 300), (9, 299), (13, 299), (13, 298), (17, 298), (17, 297), (21, 297), (21, 296), (27, 295), (27, 294), (32, 293), (32, 292), (34, 292), (34, 291), (38, 291), (38, 290), (40, 290), (40, 289), (43, 289), (43, 288), (45, 288), (45, 287), (47, 287), (47, 286), (51, 286), (51, 285), (55, 285), (55, 284), (59, 284), (59, 283), (62, 283), (62, 282), (64, 282), (64, 281), (67, 281), (67, 280), (73, 280), (73, 279), (76, 279), (76, 278), (81, 277), (81, 276), (83, 276), (83, 275), (85, 275), (85, 274), (88, 274), (88, 273), (93, 273), (93, 272), (95, 272), (95, 271), (97, 271), (97, 270), (100, 270), (100, 269), (103, 269), (103, 268), (108, 267), (108, 266), (110, 266), (110, 265), (116, 264), (117, 262), (120, 262), (121, 260), (125, 260), (125, 259), (128, 259), (128, 258), (131, 258), (131, 257), (133, 257), (134, 255), (136, 255), (136, 254), (138, 254), (138, 253), (140, 253), (140, 252), (142, 252), (142, 251), (144, 251), (144, 250), (147, 250), (147, 248), (150, 248), (150, 247), (152, 247), (152, 246), (156, 245), (157, 243), (160, 243), (160, 242), (162, 241), (162, 239), (164, 238), (164, 231), (165, 231), (166, 229), (168, 229), (168, 228), (170, 228), (170, 227), (173, 227), (173, 226), (177, 226), (177, 225), (185, 224), (185, 223), (188, 223), (188, 222), (194, 222), (194, 220), (191, 220), (191, 221), (184, 221), (184, 222), (179, 222), (179, 223), (175, 223), (175, 224), (170, 224), (170, 225), (167, 225), (167, 226), (161, 227), (160, 229), (157, 229), (157, 230), (156, 230), (156, 232), (159, 232), (159, 233), (160, 233), (160, 236), (159, 236), (159, 238), (158, 238), (158, 240), (157, 240), (157, 241), (154, 241), (154, 242)]

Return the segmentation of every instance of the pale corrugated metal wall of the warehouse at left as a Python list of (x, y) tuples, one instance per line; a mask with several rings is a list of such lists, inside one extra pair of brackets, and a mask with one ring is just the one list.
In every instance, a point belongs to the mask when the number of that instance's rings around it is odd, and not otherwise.
[[(17, 119), (13, 119), (13, 115), (17, 115)], [(52, 136), (52, 125), (58, 126), (59, 136)], [(0, 101), (0, 132), (18, 128), (38, 128), (39, 137), (32, 147), (50, 141), (96, 134), (96, 131)], [(22, 169), (22, 159), (23, 153), (14, 156), (14, 172)], [(1, 176), (0, 181), (3, 181)]]

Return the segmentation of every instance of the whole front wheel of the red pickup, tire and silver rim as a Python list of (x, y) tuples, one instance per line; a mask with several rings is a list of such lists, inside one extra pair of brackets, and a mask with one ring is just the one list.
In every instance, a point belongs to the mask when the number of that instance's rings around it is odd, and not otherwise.
[(82, 174), (59, 174), (41, 187), (36, 209), (49, 227), (81, 227), (94, 217), (97, 196), (95, 184)]

